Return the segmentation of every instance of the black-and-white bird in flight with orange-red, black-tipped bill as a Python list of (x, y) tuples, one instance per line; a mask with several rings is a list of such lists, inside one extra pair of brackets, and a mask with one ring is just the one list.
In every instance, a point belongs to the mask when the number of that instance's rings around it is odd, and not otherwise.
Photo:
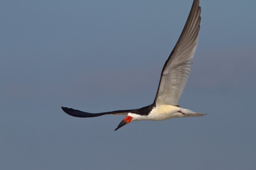
[(178, 42), (164, 63), (154, 102), (146, 107), (130, 110), (116, 110), (103, 113), (88, 113), (68, 107), (61, 107), (68, 115), (75, 117), (97, 117), (102, 115), (126, 115), (117, 129), (131, 121), (162, 121), (175, 117), (196, 117), (206, 114), (196, 113), (179, 106), (178, 100), (186, 85), (196, 52), (200, 29), (201, 7), (194, 0), (187, 22)]

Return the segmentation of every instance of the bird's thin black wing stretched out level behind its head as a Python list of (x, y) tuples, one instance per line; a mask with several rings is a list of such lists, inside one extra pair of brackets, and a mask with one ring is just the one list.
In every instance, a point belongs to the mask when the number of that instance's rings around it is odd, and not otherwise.
[(61, 108), (68, 115), (75, 116), (75, 117), (97, 117), (102, 115), (127, 115), (129, 112), (134, 110), (134, 109), (131, 109), (131, 110), (116, 110), (112, 112), (103, 112), (103, 113), (88, 113), (88, 112), (83, 112), (83, 111), (75, 110), (68, 107), (61, 107)]

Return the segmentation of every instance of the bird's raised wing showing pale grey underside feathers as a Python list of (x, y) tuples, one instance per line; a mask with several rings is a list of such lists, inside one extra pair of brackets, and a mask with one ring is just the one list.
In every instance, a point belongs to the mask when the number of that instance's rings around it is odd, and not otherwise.
[(178, 101), (192, 68), (191, 60), (196, 52), (200, 13), (199, 0), (194, 0), (180, 38), (164, 64), (155, 104), (179, 105)]

